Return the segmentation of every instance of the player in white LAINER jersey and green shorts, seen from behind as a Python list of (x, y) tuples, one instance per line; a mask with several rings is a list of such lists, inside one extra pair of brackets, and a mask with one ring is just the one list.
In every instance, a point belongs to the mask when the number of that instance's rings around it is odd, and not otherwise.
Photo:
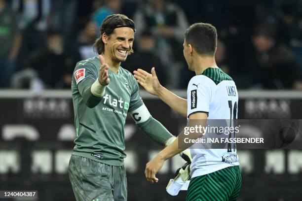
[[(172, 109), (189, 119), (194, 127), (196, 120), (205, 126), (207, 119), (236, 119), (238, 93), (232, 78), (217, 67), (215, 51), (217, 46), (216, 28), (210, 24), (191, 25), (184, 40), (184, 56), (196, 76), (189, 81), (187, 98), (182, 99), (162, 87), (156, 77), (155, 69), (151, 74), (144, 70), (134, 71), (134, 76), (149, 93), (158, 96)], [(184, 133), (182, 133), (184, 134)], [(193, 133), (191, 138), (201, 137)], [(156, 172), (164, 162), (188, 148), (192, 144), (179, 147), (177, 137), (169, 146), (160, 151), (147, 165), (147, 180), (157, 182)], [(183, 143), (184, 144), (184, 143)], [(225, 149), (190, 149), (191, 180), (187, 201), (232, 201), (236, 200), (241, 187), (241, 174), (235, 147)]]

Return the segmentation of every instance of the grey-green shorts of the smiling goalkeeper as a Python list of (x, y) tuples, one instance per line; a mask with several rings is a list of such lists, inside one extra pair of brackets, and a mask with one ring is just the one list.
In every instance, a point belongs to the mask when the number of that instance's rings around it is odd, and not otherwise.
[(69, 179), (76, 201), (126, 201), (127, 178), (124, 166), (109, 166), (72, 155)]

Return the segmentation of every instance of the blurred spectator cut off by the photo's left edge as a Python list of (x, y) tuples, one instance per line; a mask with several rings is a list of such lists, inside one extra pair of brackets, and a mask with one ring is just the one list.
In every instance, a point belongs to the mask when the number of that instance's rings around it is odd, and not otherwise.
[(10, 86), (20, 43), (21, 34), (14, 12), (5, 0), (0, 0), (0, 88)]

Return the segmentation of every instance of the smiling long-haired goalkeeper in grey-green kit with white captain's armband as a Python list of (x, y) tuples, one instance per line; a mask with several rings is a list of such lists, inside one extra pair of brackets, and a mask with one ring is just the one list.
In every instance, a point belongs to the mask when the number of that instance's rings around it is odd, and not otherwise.
[(126, 201), (124, 125), (130, 113), (152, 140), (168, 145), (174, 137), (152, 118), (133, 75), (120, 67), (133, 53), (134, 22), (108, 16), (95, 42), (99, 56), (76, 64), (72, 80), (76, 139), (69, 177), (77, 201)]

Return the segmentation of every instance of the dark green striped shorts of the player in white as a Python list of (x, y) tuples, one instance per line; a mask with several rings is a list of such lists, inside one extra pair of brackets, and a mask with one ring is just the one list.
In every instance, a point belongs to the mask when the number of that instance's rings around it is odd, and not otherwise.
[(236, 201), (241, 188), (239, 166), (220, 169), (190, 180), (186, 201)]

